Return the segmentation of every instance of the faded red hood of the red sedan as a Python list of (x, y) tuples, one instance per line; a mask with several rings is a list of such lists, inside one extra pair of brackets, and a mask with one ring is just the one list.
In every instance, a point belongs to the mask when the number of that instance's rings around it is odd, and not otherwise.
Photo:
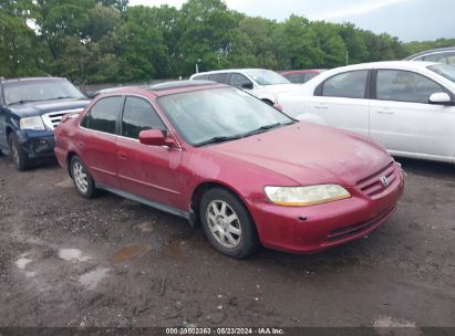
[(380, 145), (359, 135), (304, 122), (207, 149), (272, 170), (301, 186), (354, 186), (393, 160)]

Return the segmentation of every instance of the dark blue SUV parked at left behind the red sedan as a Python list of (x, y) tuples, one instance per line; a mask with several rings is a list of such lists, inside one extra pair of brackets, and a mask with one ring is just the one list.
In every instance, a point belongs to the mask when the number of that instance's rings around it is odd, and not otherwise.
[(25, 170), (35, 158), (53, 156), (54, 128), (65, 114), (90, 103), (65, 78), (0, 78), (0, 151)]

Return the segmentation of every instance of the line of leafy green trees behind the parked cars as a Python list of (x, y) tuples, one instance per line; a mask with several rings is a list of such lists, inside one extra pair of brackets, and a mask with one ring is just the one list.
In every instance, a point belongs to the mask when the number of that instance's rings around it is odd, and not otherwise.
[(77, 84), (186, 77), (226, 67), (329, 69), (400, 60), (455, 39), (402, 43), (352, 23), (278, 22), (221, 0), (128, 7), (128, 0), (0, 0), (0, 75)]

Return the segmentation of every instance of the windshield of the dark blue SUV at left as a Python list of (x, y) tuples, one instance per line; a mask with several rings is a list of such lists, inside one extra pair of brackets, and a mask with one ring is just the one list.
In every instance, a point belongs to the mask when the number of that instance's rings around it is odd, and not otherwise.
[(81, 99), (84, 95), (66, 80), (32, 80), (4, 83), (7, 105), (51, 99)]

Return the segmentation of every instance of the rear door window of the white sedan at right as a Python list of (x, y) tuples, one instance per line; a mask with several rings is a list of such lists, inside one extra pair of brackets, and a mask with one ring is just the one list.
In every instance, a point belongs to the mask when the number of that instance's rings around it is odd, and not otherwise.
[(368, 71), (351, 71), (328, 78), (322, 86), (322, 96), (364, 98)]

